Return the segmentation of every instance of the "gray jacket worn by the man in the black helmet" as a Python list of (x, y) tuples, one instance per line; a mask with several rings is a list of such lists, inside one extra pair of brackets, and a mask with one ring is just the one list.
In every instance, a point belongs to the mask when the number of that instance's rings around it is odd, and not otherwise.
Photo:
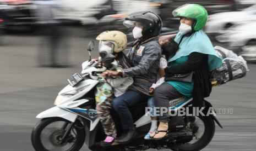
[(123, 69), (123, 76), (133, 77), (134, 83), (129, 89), (149, 95), (149, 88), (158, 77), (161, 47), (158, 38), (151, 38), (141, 43), (127, 54), (133, 67)]

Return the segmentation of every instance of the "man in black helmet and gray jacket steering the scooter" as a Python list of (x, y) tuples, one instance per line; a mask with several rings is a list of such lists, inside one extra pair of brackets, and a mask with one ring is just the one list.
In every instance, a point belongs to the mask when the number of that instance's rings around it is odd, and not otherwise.
[(134, 77), (134, 83), (129, 90), (116, 97), (112, 103), (121, 119), (123, 129), (122, 135), (115, 140), (118, 143), (126, 143), (136, 135), (132, 114), (128, 107), (148, 100), (149, 88), (156, 82), (161, 57), (158, 36), (162, 29), (162, 21), (158, 15), (151, 11), (132, 13), (123, 24), (134, 27), (133, 37), (138, 40), (127, 55), (133, 67), (123, 69), (121, 72), (107, 71), (108, 75)]

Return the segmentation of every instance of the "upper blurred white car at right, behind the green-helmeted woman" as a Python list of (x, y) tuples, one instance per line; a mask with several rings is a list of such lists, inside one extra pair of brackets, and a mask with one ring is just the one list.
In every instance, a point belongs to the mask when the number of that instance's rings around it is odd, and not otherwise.
[(228, 30), (233, 25), (251, 21), (256, 21), (256, 4), (242, 11), (230, 11), (210, 15), (205, 32), (208, 34), (225, 33), (225, 30)]

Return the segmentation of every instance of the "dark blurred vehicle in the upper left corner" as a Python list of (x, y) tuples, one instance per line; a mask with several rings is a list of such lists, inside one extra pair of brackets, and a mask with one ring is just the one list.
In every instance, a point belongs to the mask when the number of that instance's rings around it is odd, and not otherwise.
[(0, 0), (0, 18), (8, 30), (30, 29), (34, 23), (31, 10), (35, 9), (32, 1)]

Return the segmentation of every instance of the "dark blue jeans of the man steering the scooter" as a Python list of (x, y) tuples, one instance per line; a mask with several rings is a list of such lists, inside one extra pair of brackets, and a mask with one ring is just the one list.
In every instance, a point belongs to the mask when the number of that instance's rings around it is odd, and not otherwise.
[(147, 98), (141, 96), (138, 92), (128, 90), (123, 95), (116, 97), (112, 106), (118, 113), (123, 130), (128, 130), (132, 128), (133, 125), (133, 117), (129, 111), (129, 106), (134, 106), (141, 101), (145, 101)]

